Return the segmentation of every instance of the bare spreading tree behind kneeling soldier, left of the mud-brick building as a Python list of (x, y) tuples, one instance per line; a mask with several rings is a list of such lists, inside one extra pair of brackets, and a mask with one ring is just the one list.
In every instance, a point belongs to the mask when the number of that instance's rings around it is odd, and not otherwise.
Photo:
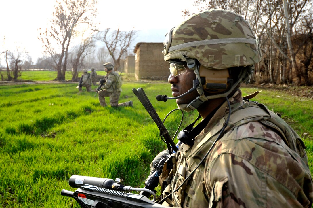
[(98, 39), (104, 42), (114, 62), (115, 70), (119, 70), (123, 55), (128, 52), (132, 41), (136, 38), (137, 31), (120, 31), (118, 28), (110, 32), (110, 28), (99, 32)]

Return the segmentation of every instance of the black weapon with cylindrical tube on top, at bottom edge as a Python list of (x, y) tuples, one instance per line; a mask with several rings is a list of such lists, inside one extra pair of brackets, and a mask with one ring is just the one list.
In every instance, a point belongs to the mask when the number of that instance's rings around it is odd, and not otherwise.
[(74, 198), (83, 208), (168, 208), (149, 200), (146, 196), (126, 193), (125, 191), (152, 191), (122, 185), (121, 179), (114, 181), (107, 178), (73, 175), (69, 179), (69, 185), (78, 189), (74, 192), (63, 189), (61, 195)]

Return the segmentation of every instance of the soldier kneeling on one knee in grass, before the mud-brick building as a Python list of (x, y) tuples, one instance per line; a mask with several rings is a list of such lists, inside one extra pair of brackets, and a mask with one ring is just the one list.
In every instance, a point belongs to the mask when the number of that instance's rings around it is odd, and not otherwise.
[(111, 62), (107, 62), (103, 66), (107, 74), (104, 79), (99, 81), (102, 89), (102, 91), (98, 91), (100, 105), (106, 107), (105, 97), (110, 97), (111, 107), (132, 107), (133, 101), (118, 103), (122, 91), (122, 78), (120, 74), (114, 71), (114, 65)]

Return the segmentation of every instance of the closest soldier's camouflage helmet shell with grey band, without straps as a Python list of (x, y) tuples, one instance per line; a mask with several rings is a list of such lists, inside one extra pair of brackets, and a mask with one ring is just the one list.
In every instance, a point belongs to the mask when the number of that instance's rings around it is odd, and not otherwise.
[(164, 60), (197, 59), (212, 69), (254, 65), (261, 60), (249, 24), (240, 15), (222, 9), (194, 14), (171, 29), (164, 42)]

